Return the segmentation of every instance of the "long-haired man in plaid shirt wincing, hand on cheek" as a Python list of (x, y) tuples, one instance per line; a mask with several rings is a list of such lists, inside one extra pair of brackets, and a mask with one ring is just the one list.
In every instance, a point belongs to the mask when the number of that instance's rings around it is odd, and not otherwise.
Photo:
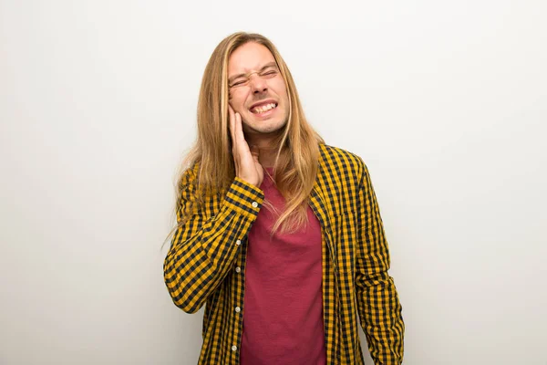
[(164, 274), (179, 308), (206, 304), (200, 364), (362, 364), (358, 320), (376, 364), (402, 362), (366, 166), (307, 123), (265, 37), (215, 48), (188, 162)]

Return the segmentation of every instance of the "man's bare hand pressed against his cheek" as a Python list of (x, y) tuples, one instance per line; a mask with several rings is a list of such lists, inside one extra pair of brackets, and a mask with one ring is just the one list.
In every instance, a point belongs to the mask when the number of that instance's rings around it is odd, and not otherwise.
[(235, 164), (235, 175), (247, 183), (260, 187), (264, 178), (263, 167), (258, 162), (258, 147), (251, 146), (243, 136), (242, 116), (233, 111), (230, 112), (230, 134), (232, 135), (232, 155)]

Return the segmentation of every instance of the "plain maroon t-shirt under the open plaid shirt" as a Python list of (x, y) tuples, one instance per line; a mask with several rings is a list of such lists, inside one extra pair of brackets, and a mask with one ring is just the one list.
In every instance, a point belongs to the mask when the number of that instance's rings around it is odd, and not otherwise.
[[(261, 189), (283, 211), (284, 197), (265, 173)], [(249, 232), (243, 365), (325, 365), (321, 225), (310, 207), (307, 214), (300, 232), (271, 236), (276, 216), (263, 206)]]

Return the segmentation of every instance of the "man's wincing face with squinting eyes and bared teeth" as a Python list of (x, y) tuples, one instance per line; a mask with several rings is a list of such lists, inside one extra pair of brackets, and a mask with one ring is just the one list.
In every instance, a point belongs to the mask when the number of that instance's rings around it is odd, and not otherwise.
[(240, 113), (248, 137), (260, 138), (283, 129), (289, 116), (284, 79), (272, 52), (249, 42), (228, 59), (230, 105)]

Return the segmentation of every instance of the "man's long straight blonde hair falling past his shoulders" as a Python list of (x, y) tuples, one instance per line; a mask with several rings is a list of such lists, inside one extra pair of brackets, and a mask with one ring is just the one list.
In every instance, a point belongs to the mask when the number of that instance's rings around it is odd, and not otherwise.
[[(184, 169), (196, 164), (199, 165), (196, 182), (199, 188), (194, 190), (199, 196), (193, 200), (196, 204), (201, 204), (208, 193), (225, 191), (233, 182), (235, 166), (228, 129), (228, 59), (236, 48), (248, 42), (261, 44), (272, 52), (289, 98), (289, 117), (284, 132), (276, 141), (279, 149), (274, 163), (274, 182), (284, 196), (285, 209), (279, 212), (273, 231), (294, 232), (307, 223), (307, 199), (314, 187), (319, 143), (323, 139), (304, 117), (294, 79), (283, 57), (269, 39), (259, 34), (234, 33), (224, 38), (212, 52), (201, 80), (198, 137), (182, 164), (177, 180), (178, 196), (185, 189), (182, 186)], [(181, 213), (179, 226), (189, 218), (184, 214), (195, 211), (195, 207), (186, 208)]]

